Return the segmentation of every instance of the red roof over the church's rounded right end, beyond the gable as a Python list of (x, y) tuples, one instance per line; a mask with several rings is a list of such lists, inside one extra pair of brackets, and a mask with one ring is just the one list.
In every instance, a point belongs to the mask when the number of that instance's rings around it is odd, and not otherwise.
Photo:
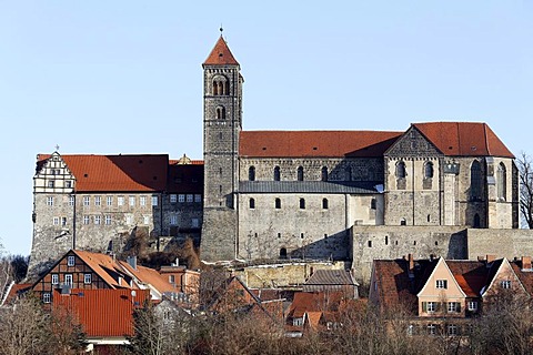
[(413, 123), (413, 126), (444, 155), (514, 158), (486, 123), (428, 122)]

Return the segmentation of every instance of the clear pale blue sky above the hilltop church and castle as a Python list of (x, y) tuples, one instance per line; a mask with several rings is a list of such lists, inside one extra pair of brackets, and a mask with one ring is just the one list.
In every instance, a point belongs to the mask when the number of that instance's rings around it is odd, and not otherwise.
[(486, 122), (533, 155), (533, 2), (0, 1), (7, 251), (28, 255), (36, 155), (202, 159), (202, 68), (220, 26), (245, 130)]

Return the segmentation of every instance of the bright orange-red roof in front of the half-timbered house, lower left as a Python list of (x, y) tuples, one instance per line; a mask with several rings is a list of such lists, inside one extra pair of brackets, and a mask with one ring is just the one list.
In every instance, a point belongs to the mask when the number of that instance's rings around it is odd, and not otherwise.
[[(133, 310), (150, 300), (148, 290), (54, 290), (52, 306), (67, 310), (82, 325), (88, 337), (133, 335)], [(134, 295), (133, 295), (134, 294)]]

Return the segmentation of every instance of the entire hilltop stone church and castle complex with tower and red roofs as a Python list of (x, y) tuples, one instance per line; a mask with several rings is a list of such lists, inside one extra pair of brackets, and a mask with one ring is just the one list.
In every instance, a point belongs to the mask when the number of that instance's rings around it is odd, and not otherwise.
[[(487, 124), (245, 131), (244, 79), (222, 36), (202, 67), (203, 160), (38, 155), (30, 268), (71, 247), (117, 248), (138, 230), (158, 250), (191, 236), (205, 261), (396, 257), (409, 239), (419, 240), (410, 248), (467, 258), (464, 231), (516, 234), (514, 155)], [(391, 247), (383, 255), (378, 236)]]

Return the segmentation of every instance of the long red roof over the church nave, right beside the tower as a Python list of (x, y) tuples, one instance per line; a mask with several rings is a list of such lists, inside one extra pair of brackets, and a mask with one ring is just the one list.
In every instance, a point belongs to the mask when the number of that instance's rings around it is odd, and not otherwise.
[(402, 132), (242, 131), (241, 156), (382, 156)]

